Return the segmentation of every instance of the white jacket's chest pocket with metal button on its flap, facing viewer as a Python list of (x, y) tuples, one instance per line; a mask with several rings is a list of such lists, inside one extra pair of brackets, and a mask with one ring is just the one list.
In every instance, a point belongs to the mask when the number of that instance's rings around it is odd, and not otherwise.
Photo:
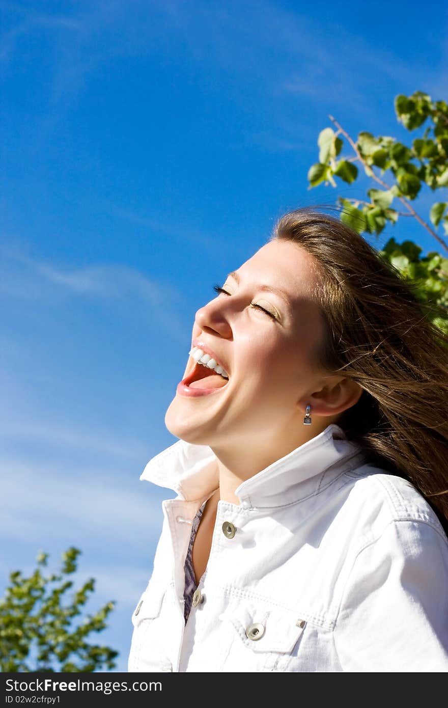
[(306, 620), (297, 612), (257, 603), (231, 603), (220, 617), (234, 634), (225, 671), (298, 670)]

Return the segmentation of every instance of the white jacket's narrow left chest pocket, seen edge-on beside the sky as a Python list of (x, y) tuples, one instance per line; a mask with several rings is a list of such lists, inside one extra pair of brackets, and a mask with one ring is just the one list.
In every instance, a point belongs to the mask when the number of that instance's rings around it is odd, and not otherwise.
[(132, 612), (131, 649), (128, 671), (171, 671), (171, 662), (163, 646), (163, 627), (159, 615), (166, 587), (149, 582)]

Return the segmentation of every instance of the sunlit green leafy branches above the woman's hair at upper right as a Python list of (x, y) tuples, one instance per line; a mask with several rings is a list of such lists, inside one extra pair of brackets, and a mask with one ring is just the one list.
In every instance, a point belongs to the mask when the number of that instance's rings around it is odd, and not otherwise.
[[(318, 136), (318, 162), (308, 172), (309, 185), (337, 186), (337, 180), (351, 184), (360, 171), (369, 178), (367, 199), (338, 198), (340, 219), (359, 234), (381, 234), (386, 224), (396, 224), (403, 217), (417, 219), (442, 246), (444, 253), (423, 249), (413, 241), (396, 243), (389, 239), (379, 254), (401, 274), (418, 285), (418, 297), (427, 304), (430, 320), (448, 332), (448, 245), (440, 232), (448, 235), (448, 105), (432, 101), (427, 93), (396, 96), (395, 111), (399, 122), (409, 131), (421, 129), (410, 145), (395, 137), (362, 131), (355, 141), (335, 118)], [(348, 147), (349, 154), (343, 154)], [(361, 172), (362, 173), (362, 172)], [(412, 202), (427, 186), (442, 190), (425, 221)], [(432, 224), (432, 225), (430, 225)]]

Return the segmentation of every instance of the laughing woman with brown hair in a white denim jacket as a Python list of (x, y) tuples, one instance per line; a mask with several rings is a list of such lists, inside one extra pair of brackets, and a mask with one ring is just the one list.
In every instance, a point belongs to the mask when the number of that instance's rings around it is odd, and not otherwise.
[(129, 670), (448, 670), (448, 337), (310, 210), (215, 290), (166, 412), (180, 440), (142, 474), (178, 496)]

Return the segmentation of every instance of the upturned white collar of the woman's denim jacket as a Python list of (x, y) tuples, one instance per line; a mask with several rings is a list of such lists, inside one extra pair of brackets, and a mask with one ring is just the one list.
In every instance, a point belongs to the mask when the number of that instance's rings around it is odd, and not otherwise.
[[(235, 490), (242, 506), (284, 506), (316, 493), (324, 472), (356, 467), (367, 458), (331, 423), (322, 433), (243, 481)], [(173, 489), (185, 501), (207, 498), (219, 486), (216, 457), (208, 445), (178, 440), (149, 460), (140, 479)]]

